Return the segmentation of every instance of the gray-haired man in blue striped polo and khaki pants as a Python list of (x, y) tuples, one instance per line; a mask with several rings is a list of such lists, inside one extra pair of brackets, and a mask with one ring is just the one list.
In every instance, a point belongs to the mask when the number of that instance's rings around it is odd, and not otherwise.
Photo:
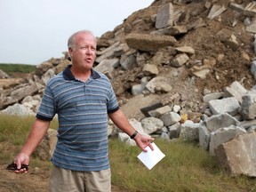
[(58, 114), (58, 141), (52, 156), (50, 191), (111, 191), (108, 161), (108, 117), (126, 132), (143, 150), (151, 137), (135, 131), (117, 104), (115, 93), (106, 76), (93, 70), (96, 38), (87, 30), (68, 39), (72, 65), (54, 76), (46, 85), (44, 96), (28, 140), (16, 156), (15, 172), (43, 139), (49, 124)]

